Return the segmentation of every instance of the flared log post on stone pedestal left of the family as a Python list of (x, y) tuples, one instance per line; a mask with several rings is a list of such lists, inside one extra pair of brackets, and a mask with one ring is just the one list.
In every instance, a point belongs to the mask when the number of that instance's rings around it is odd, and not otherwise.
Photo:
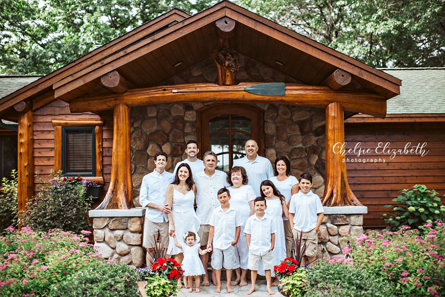
[(130, 108), (120, 103), (114, 106), (113, 114), (110, 186), (104, 200), (96, 209), (130, 209), (135, 207), (130, 154)]

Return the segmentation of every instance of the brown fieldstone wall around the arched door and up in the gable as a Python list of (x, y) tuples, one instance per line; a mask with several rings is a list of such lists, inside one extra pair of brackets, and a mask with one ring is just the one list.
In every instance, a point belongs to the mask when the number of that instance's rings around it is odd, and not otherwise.
[[(237, 81), (300, 83), (243, 55)], [(160, 84), (193, 82), (216, 82), (216, 66), (210, 58)], [(136, 205), (142, 178), (155, 168), (153, 156), (160, 150), (166, 152), (170, 156), (166, 169), (172, 172), (176, 163), (187, 157), (187, 141), (197, 139), (197, 110), (209, 104), (131, 108), (131, 174)], [(321, 197), (325, 182), (325, 110), (278, 104), (256, 106), (264, 110), (265, 156), (274, 162), (277, 156), (285, 155), (291, 161), (292, 175), (313, 175), (314, 192)]]

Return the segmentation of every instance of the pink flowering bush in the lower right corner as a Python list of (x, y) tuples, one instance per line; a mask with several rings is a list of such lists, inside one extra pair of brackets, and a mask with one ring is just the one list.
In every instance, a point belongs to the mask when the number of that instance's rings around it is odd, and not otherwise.
[(343, 253), (354, 265), (387, 281), (398, 296), (445, 296), (445, 224), (419, 229), (403, 226), (384, 235), (363, 234)]

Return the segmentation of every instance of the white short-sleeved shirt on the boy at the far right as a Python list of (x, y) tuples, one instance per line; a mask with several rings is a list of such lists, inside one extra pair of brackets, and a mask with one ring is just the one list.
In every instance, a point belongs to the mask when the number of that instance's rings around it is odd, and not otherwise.
[(300, 192), (292, 195), (289, 204), (289, 213), (294, 216), (294, 229), (309, 232), (317, 227), (318, 214), (324, 213), (320, 197), (309, 191), (307, 194)]

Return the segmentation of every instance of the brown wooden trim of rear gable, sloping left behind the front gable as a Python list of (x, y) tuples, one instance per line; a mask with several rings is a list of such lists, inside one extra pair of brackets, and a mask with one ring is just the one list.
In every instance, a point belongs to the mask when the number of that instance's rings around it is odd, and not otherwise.
[[(88, 63), (86, 65), (83, 62), (93, 59), (93, 58), (97, 58), (97, 60), (100, 60), (102, 57), (109, 56), (115, 50), (123, 48), (135, 41), (134, 39), (128, 40), (129, 38), (144, 37), (147, 34), (150, 34), (151, 32), (155, 32), (156, 30), (159, 30), (160, 28), (162, 28), (174, 21), (181, 22), (182, 20), (184, 20), (187, 17), (189, 17), (189, 15), (187, 13), (185, 13), (182, 10), (179, 10), (177, 8), (174, 8), (174, 9), (148, 21), (147, 23), (131, 30), (130, 32), (125, 33), (124, 35), (120, 36), (119, 38), (111, 40), (109, 43), (103, 45), (102, 47), (91, 51), (90, 53), (74, 60), (73, 62), (51, 72), (50, 74), (47, 74), (47, 75), (33, 81), (32, 83), (28, 84), (27, 86), (4, 97), (2, 100), (0, 100), (0, 111), (3, 111), (8, 107), (13, 106), (15, 103), (22, 101), (30, 96), (33, 96), (42, 90), (51, 88), (52, 84), (57, 82), (61, 78), (65, 77), (66, 75), (70, 75), (71, 73), (74, 73), (76, 71), (79, 71), (80, 69), (87, 67), (88, 65), (91, 64), (91, 63)], [(51, 89), (49, 89), (49, 90), (51, 90)], [(47, 91), (49, 91), (49, 90), (47, 90)], [(5, 103), (11, 99), (14, 99), (13, 102), (5, 105)]]

